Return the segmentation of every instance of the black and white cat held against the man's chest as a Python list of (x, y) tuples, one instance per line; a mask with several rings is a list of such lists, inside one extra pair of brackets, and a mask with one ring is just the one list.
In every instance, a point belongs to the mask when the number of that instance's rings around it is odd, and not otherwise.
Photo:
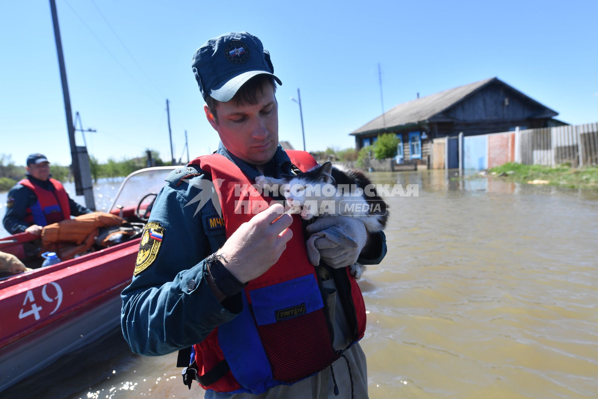
[[(285, 212), (300, 214), (305, 220), (331, 215), (359, 218), (368, 233), (383, 230), (388, 221), (388, 206), (376, 187), (359, 169), (333, 166), (331, 162), (313, 167), (296, 176), (275, 179), (266, 176), (255, 178), (256, 184), (285, 197)], [(349, 265), (347, 265), (349, 266)], [(351, 265), (355, 279), (361, 277), (365, 266)]]

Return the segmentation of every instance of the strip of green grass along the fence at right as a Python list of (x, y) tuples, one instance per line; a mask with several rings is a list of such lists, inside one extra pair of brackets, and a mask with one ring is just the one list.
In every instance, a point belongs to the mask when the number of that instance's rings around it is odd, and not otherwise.
[(496, 172), (499, 175), (511, 171), (512, 173), (504, 176), (504, 178), (522, 183), (532, 180), (548, 180), (548, 184), (561, 187), (598, 188), (598, 167), (575, 168), (569, 165), (552, 167), (509, 162), (493, 167), (488, 173)]

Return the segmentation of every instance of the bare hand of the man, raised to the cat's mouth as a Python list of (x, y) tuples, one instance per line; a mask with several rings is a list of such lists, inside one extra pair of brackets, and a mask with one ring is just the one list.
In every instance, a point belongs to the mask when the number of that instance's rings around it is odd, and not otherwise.
[[(286, 249), (286, 243), (293, 236), (288, 227), (293, 218), (282, 215), (280, 204), (274, 204), (243, 223), (228, 237), (216, 254), (227, 260), (224, 266), (242, 283), (257, 278), (278, 261)], [(274, 223), (272, 223), (276, 220)]]

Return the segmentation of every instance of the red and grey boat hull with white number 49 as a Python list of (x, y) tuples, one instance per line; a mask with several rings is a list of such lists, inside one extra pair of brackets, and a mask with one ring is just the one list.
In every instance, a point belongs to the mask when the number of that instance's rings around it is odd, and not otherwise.
[(0, 282), (0, 391), (118, 326), (139, 239)]

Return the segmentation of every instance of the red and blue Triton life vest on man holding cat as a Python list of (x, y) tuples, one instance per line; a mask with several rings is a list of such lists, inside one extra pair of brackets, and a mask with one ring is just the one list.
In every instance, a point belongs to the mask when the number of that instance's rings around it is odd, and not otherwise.
[[(318, 165), (304, 151), (286, 153), (303, 171)], [(212, 176), (227, 237), (272, 201), (258, 193), (252, 187), (254, 182), (220, 154), (202, 156), (190, 164)], [(312, 376), (340, 357), (341, 351), (332, 347), (327, 294), (307, 258), (299, 215), (293, 215), (290, 228), (293, 236), (277, 263), (249, 281), (242, 292), (242, 312), (194, 345), (199, 375), (204, 382), (209, 380), (205, 385), (200, 383), (202, 388), (261, 394), (273, 386), (291, 385)], [(349, 267), (332, 269), (331, 274), (337, 285), (337, 300), (342, 301), (353, 332), (348, 348), (364, 336), (364, 299)]]

